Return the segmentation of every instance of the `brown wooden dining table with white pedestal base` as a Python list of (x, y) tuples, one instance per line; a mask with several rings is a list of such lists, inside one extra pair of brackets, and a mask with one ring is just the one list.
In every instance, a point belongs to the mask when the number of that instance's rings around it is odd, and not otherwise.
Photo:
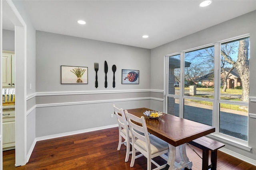
[[(169, 144), (170, 154), (165, 170), (181, 170), (183, 168), (192, 168), (192, 162), (186, 155), (186, 143), (215, 132), (215, 128), (209, 125), (190, 121), (163, 113), (158, 119), (152, 119), (143, 113), (152, 111), (145, 107), (136, 109), (127, 109), (128, 113), (137, 117), (144, 116), (148, 132), (166, 141)], [(179, 147), (181, 161), (175, 162), (176, 147)]]

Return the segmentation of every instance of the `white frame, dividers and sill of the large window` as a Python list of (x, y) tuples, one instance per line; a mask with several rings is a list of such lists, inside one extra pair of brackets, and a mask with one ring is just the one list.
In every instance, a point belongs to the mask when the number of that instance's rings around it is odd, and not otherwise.
[[(216, 43), (211, 43), (208, 45), (203, 45), (200, 47), (195, 47), (192, 49), (180, 51), (178, 53), (172, 53), (169, 55), (164, 56), (164, 111), (167, 113), (168, 109), (168, 97), (172, 98), (179, 98), (179, 117), (183, 118), (183, 112), (184, 112), (184, 100), (185, 99), (194, 99), (194, 100), (202, 100), (202, 101), (208, 101), (208, 102), (213, 102), (213, 110), (212, 110), (212, 126), (216, 128), (216, 131), (210, 135), (209, 137), (223, 141), (224, 143), (228, 143), (230, 145), (239, 147), (244, 150), (250, 151), (252, 148), (248, 146), (248, 141), (244, 141), (235, 137), (231, 137), (229, 135), (225, 135), (223, 133), (219, 133), (219, 106), (220, 103), (226, 103), (226, 104), (237, 104), (237, 105), (242, 105), (242, 106), (249, 106), (249, 102), (234, 102), (234, 101), (225, 101), (225, 100), (220, 100), (220, 49), (221, 49), (221, 44), (226, 43), (229, 41), (234, 41), (238, 39), (242, 39), (245, 37), (250, 37), (250, 34), (244, 34), (240, 35), (237, 37), (232, 37), (230, 39), (225, 39), (222, 41), (218, 41)], [(192, 96), (184, 96), (184, 56), (186, 52), (189, 51), (194, 51), (206, 47), (214, 46), (214, 96), (217, 96), (216, 98), (212, 99), (204, 99), (204, 98), (196, 98)], [(168, 77), (169, 77), (169, 60), (168, 58), (171, 56), (175, 55), (180, 55), (180, 95), (175, 95), (175, 94), (168, 94)], [(249, 115), (248, 115), (249, 117)], [(249, 122), (249, 121), (248, 121)], [(248, 137), (249, 138), (249, 137)]]

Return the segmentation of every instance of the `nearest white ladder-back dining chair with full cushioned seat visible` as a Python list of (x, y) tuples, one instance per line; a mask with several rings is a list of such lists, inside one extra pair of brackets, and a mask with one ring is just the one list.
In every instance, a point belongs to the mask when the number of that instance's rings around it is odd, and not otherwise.
[(148, 134), (144, 116), (139, 118), (128, 113), (127, 110), (124, 112), (128, 120), (130, 132), (132, 133), (132, 160), (130, 167), (134, 166), (136, 150), (138, 150), (147, 158), (147, 170), (151, 170), (151, 162), (157, 166), (157, 168), (154, 168), (154, 170), (164, 168), (166, 164), (160, 166), (158, 163), (152, 160), (152, 158), (161, 156), (164, 158), (164, 160), (168, 161), (168, 157), (164, 155), (165, 153), (171, 155), (169, 153), (168, 143), (152, 134)]

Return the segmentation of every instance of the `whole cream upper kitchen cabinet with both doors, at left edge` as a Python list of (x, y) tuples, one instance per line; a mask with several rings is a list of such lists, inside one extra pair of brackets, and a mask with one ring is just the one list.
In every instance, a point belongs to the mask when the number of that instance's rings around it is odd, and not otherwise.
[(13, 51), (2, 53), (2, 82), (3, 87), (15, 86), (15, 55)]

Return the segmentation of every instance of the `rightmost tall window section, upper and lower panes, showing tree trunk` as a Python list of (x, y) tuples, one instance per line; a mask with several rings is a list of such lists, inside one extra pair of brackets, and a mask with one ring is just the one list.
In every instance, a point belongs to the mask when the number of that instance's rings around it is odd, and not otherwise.
[(248, 140), (249, 37), (221, 43), (220, 133)]

